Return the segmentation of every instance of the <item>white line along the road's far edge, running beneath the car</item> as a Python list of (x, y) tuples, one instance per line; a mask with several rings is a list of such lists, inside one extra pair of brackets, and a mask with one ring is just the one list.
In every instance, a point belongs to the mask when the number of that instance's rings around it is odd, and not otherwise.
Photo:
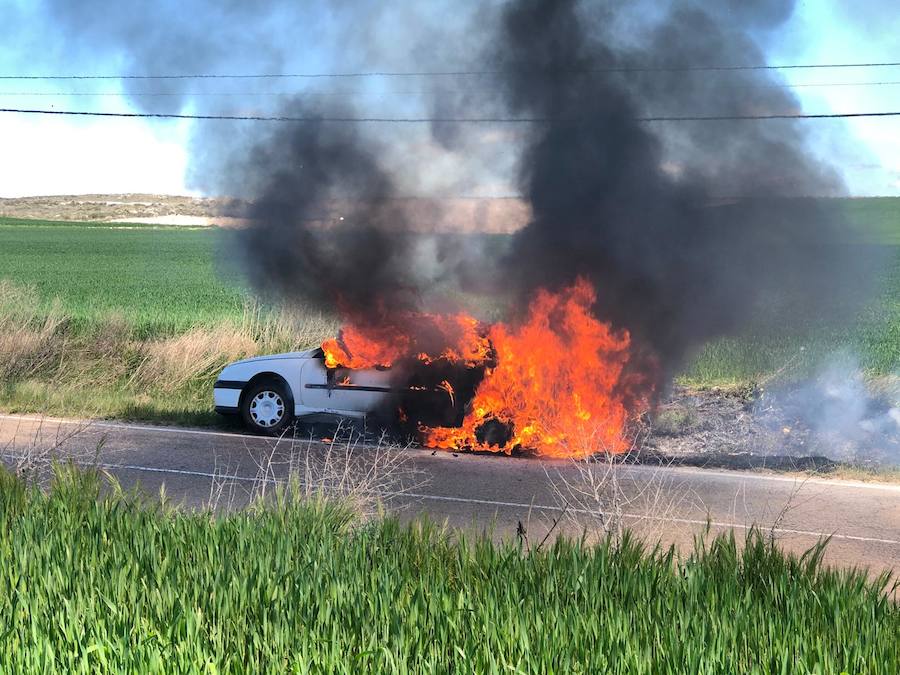
[[(5, 415), (0, 414), (0, 420), (19, 420), (23, 422), (49, 422), (52, 424), (74, 424), (85, 426), (88, 429), (99, 428), (99, 429), (124, 429), (127, 431), (140, 431), (146, 433), (163, 433), (163, 434), (175, 434), (175, 435), (196, 435), (196, 436), (214, 436), (220, 438), (229, 438), (229, 439), (243, 439), (244, 441), (259, 441), (259, 442), (268, 442), (271, 443), (275, 440), (275, 438), (265, 437), (265, 436), (255, 436), (252, 434), (242, 434), (242, 433), (229, 433), (226, 431), (205, 431), (201, 429), (183, 429), (180, 427), (161, 427), (161, 426), (151, 426), (151, 425), (141, 425), (141, 424), (126, 424), (121, 422), (95, 422), (92, 420), (72, 420), (72, 419), (62, 419), (55, 417), (40, 417), (35, 415)], [(297, 439), (287, 439), (287, 440), (296, 440), (298, 442), (306, 442), (308, 440), (316, 441), (317, 439), (308, 439), (308, 438), (297, 438)], [(429, 448), (430, 449), (430, 448)], [(428, 449), (422, 449), (422, 452), (427, 451)], [(445, 451), (441, 451), (443, 454)], [(460, 457), (464, 457), (466, 459), (490, 459), (485, 455), (469, 455), (467, 453), (459, 453)], [(505, 458), (504, 458), (505, 459)], [(517, 461), (528, 461), (527, 459), (519, 459)], [(553, 460), (555, 463), (559, 463), (559, 460)], [(550, 462), (547, 462), (550, 463)], [(636, 471), (636, 472), (645, 472), (645, 471), (667, 471), (676, 474), (685, 474), (689, 476), (701, 476), (701, 477), (716, 477), (716, 478), (725, 478), (728, 480), (739, 480), (739, 481), (763, 481), (763, 482), (777, 482), (777, 483), (805, 483), (809, 485), (826, 485), (826, 486), (842, 486), (849, 488), (859, 488), (863, 490), (882, 490), (886, 492), (900, 492), (900, 485), (892, 485), (888, 483), (867, 483), (863, 481), (852, 481), (852, 480), (841, 480), (837, 478), (815, 478), (815, 477), (807, 477), (807, 476), (772, 476), (768, 474), (759, 474), (759, 473), (751, 473), (748, 471), (722, 471), (716, 469), (704, 469), (704, 468), (696, 468), (696, 467), (683, 467), (683, 466), (665, 466), (665, 465), (649, 465), (649, 464), (631, 464), (631, 465), (623, 465), (622, 470), (624, 471)]]

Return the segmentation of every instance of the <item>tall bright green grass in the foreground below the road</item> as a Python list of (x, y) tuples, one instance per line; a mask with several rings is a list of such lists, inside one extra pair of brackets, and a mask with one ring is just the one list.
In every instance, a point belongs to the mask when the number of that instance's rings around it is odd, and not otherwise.
[(900, 672), (889, 581), (758, 534), (679, 561), (635, 540), (514, 543), (282, 493), (211, 515), (63, 473), (0, 474), (0, 670)]

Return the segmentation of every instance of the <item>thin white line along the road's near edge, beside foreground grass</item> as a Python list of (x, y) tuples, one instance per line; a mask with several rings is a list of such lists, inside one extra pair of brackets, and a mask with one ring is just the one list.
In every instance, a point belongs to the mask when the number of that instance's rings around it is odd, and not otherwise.
[[(217, 480), (233, 480), (233, 481), (241, 481), (248, 483), (257, 483), (257, 482), (265, 482), (265, 483), (273, 483), (280, 484), (283, 483), (284, 480), (279, 480), (277, 478), (258, 478), (253, 476), (241, 476), (237, 474), (215, 474), (209, 473), (206, 471), (193, 471), (188, 469), (161, 469), (159, 467), (151, 467), (151, 466), (141, 466), (137, 464), (91, 464), (85, 462), (84, 464), (88, 466), (97, 466), (102, 469), (107, 469), (109, 471), (145, 471), (149, 473), (163, 473), (163, 474), (175, 474), (182, 476), (194, 476), (199, 478), (210, 478)], [(416, 492), (392, 492), (392, 491), (378, 491), (378, 494), (381, 497), (391, 497), (391, 498), (402, 498), (402, 499), (425, 499), (431, 501), (440, 501), (440, 502), (453, 502), (460, 504), (474, 504), (478, 506), (494, 506), (494, 507), (504, 507), (504, 508), (515, 508), (515, 509), (523, 509), (523, 510), (532, 510), (532, 511), (553, 511), (561, 513), (563, 511), (571, 512), (571, 513), (581, 513), (585, 515), (600, 515), (600, 512), (593, 511), (591, 509), (583, 509), (583, 508), (570, 508), (570, 507), (561, 507), (561, 506), (547, 506), (542, 504), (525, 504), (523, 502), (506, 502), (506, 501), (498, 501), (493, 499), (475, 499), (471, 497), (447, 497), (443, 495), (430, 495), (425, 493), (416, 493)], [(652, 520), (655, 522), (665, 522), (665, 523), (678, 523), (681, 525), (699, 525), (706, 526), (709, 525), (711, 527), (719, 527), (724, 529), (739, 529), (739, 530), (749, 530), (752, 527), (759, 527), (758, 525), (746, 525), (743, 523), (729, 523), (723, 521), (716, 520), (698, 520), (693, 518), (671, 518), (666, 516), (650, 516), (643, 514), (623, 514), (624, 518), (628, 518), (629, 520)], [(859, 541), (859, 542), (869, 542), (876, 544), (890, 544), (893, 546), (900, 546), (900, 540), (897, 539), (881, 539), (879, 537), (863, 537), (852, 534), (839, 534), (839, 533), (828, 533), (828, 532), (815, 532), (812, 530), (797, 530), (785, 527), (775, 527), (775, 528), (761, 528), (765, 531), (776, 532), (778, 534), (792, 534), (792, 535), (802, 535), (807, 537), (814, 537), (817, 539), (823, 539), (825, 537), (831, 537), (832, 539), (841, 539), (844, 541)]]

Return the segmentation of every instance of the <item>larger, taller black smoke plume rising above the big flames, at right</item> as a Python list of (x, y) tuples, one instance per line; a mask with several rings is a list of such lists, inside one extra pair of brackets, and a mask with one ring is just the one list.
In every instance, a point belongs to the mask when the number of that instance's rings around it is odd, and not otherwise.
[(550, 120), (525, 143), (533, 218), (506, 269), (526, 297), (593, 279), (598, 315), (664, 375), (784, 298), (822, 318), (859, 297), (840, 214), (803, 198), (842, 186), (799, 122), (639, 120), (799, 112), (765, 71), (689, 70), (764, 63), (744, 29), (783, 18), (775, 4), (788, 3), (676, 3), (624, 45), (613, 3), (523, 0), (502, 15), (498, 86), (513, 113)]

